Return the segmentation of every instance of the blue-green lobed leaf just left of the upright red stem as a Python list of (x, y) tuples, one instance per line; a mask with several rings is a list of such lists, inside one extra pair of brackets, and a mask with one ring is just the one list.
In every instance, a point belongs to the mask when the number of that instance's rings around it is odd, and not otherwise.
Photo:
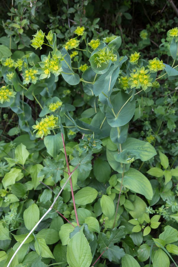
[(61, 181), (61, 175), (63, 175), (63, 159), (60, 159), (58, 162), (55, 159), (47, 158), (44, 160), (45, 166), (39, 173), (38, 177), (44, 175), (44, 178), (52, 176), (52, 179), (55, 183)]

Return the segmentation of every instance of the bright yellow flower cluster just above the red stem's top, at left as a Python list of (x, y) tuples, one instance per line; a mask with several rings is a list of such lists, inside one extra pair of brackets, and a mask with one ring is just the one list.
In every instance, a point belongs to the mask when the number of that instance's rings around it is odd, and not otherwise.
[(33, 132), (37, 131), (35, 137), (43, 138), (43, 136), (50, 134), (50, 131), (57, 126), (57, 121), (58, 117), (54, 117), (54, 115), (46, 116), (40, 122), (36, 121), (36, 125), (32, 126), (35, 129)]

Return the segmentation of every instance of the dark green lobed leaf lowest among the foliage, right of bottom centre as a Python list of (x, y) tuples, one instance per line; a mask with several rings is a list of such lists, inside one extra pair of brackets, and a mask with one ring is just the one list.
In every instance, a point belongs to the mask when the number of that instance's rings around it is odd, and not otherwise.
[(120, 241), (121, 238), (125, 237), (124, 233), (124, 226), (120, 226), (118, 229), (115, 227), (109, 239), (107, 239), (107, 236), (105, 233), (99, 233), (98, 235), (98, 244), (99, 244), (99, 252), (103, 253), (102, 256), (105, 258), (108, 258), (109, 261), (115, 261), (116, 263), (119, 263), (120, 258), (122, 258), (125, 255), (125, 252), (122, 248), (119, 246), (114, 245), (118, 241)]

